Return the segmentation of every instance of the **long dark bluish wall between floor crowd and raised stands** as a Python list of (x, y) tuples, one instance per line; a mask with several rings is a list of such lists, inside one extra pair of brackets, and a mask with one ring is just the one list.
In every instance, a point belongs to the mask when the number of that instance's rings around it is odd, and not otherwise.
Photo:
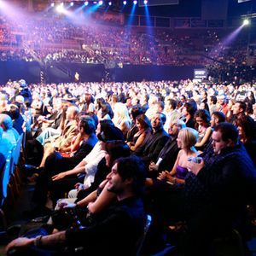
[(106, 70), (102, 64), (54, 62), (41, 67), (38, 62), (0, 61), (0, 84), (5, 84), (9, 79), (39, 83), (42, 73), (48, 83), (73, 82), (75, 73), (79, 73), (81, 82), (101, 82), (106, 78), (119, 82), (193, 79), (194, 68), (198, 67), (125, 65), (123, 68)]

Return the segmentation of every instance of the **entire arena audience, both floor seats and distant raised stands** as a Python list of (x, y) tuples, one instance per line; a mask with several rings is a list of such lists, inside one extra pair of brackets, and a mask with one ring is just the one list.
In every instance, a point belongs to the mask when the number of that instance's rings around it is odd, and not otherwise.
[[(24, 218), (44, 224), (21, 229), (6, 253), (134, 255), (147, 215), (145, 255), (166, 242), (181, 255), (214, 255), (214, 239), (234, 229), (247, 241), (256, 218), (256, 83), (247, 33), (228, 44), (230, 32), (1, 15), (0, 61), (201, 65), (210, 75), (0, 85), (0, 167), (26, 135), (22, 173), (34, 190)], [(184, 232), (172, 241), (177, 223)]]

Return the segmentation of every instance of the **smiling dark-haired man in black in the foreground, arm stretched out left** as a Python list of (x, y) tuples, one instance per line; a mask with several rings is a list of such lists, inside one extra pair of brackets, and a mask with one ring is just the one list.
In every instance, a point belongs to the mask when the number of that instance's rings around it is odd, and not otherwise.
[(26, 254), (71, 255), (73, 248), (79, 247), (81, 253), (88, 256), (131, 255), (145, 223), (146, 214), (140, 197), (145, 177), (141, 160), (135, 156), (120, 158), (108, 174), (108, 191), (116, 194), (117, 202), (102, 212), (95, 222), (48, 236), (17, 238), (7, 245), (6, 252), (14, 253), (12, 250), (16, 249)]

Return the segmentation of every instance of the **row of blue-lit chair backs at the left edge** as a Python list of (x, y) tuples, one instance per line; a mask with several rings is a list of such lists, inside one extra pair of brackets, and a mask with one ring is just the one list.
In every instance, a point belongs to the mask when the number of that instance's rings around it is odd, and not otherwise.
[(0, 174), (0, 217), (1, 223), (3, 224), (3, 230), (0, 231), (0, 234), (5, 233), (7, 230), (7, 218), (3, 210), (4, 204), (7, 198), (14, 200), (19, 194), (20, 171), (18, 170), (18, 164), (23, 142), (24, 136), (21, 134), (15, 147), (6, 156), (5, 165)]

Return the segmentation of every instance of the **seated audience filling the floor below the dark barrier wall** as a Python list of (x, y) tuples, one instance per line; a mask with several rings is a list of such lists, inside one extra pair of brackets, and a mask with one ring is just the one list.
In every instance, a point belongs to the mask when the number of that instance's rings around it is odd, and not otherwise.
[[(234, 228), (246, 239), (256, 188), (255, 93), (253, 83), (191, 80), (4, 84), (1, 145), (11, 148), (26, 132), (23, 171), (35, 183), (26, 218), (49, 216), (52, 227), (7, 250), (62, 252), (65, 245), (64, 253), (119, 255), (120, 247), (109, 247), (113, 237), (134, 249), (146, 213), (153, 218), (148, 250), (180, 220), (185, 255), (210, 255), (214, 237)], [(80, 212), (79, 222), (56, 221), (53, 209), (67, 208)]]

